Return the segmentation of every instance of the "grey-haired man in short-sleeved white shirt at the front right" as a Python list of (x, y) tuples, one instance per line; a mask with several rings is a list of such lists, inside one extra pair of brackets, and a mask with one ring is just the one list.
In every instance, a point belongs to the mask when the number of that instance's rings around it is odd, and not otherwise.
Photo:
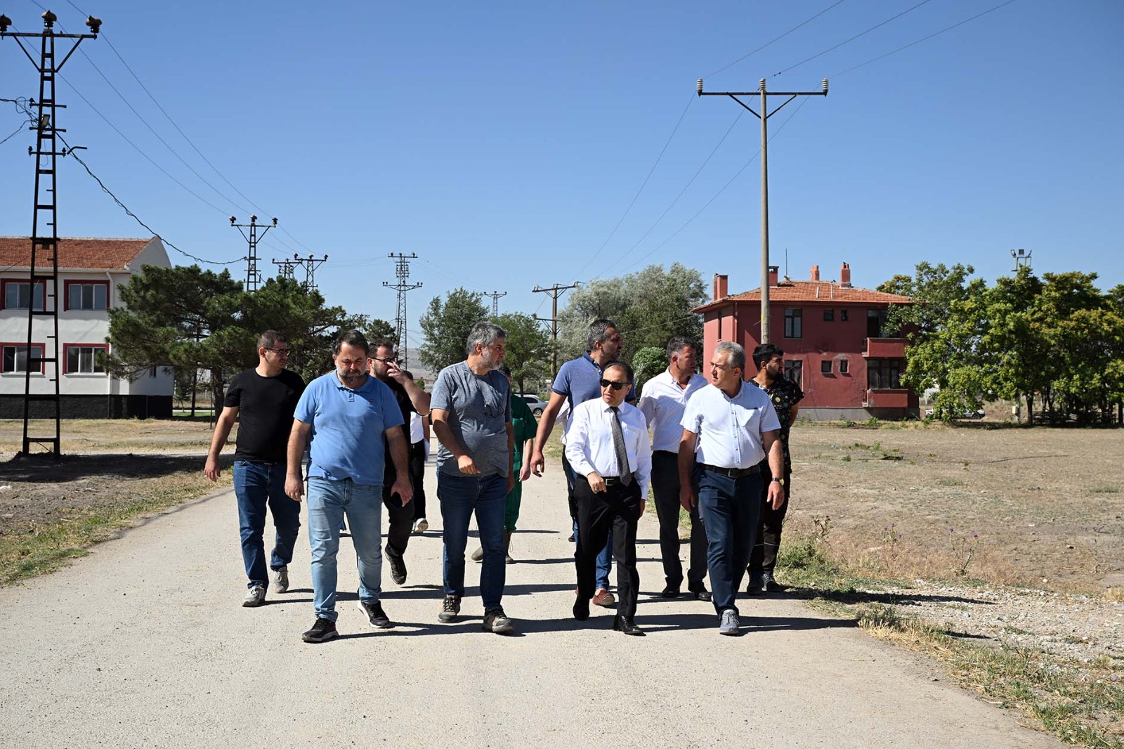
[(785, 503), (780, 422), (769, 396), (744, 381), (745, 349), (724, 341), (710, 358), (710, 387), (687, 403), (679, 443), (680, 503), (698, 506), (707, 534), (707, 566), (718, 633), (737, 634), (734, 597), (753, 550), (761, 513), (761, 468), (773, 478), (768, 498)]

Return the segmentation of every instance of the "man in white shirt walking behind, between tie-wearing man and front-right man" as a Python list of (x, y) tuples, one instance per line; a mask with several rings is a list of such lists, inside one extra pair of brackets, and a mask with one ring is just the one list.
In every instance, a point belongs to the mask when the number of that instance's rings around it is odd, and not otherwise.
[[(652, 494), (655, 496), (655, 515), (660, 518), (660, 556), (667, 587), (664, 598), (678, 598), (683, 583), (683, 565), (679, 560), (679, 440), (683, 427), (687, 400), (707, 386), (705, 377), (696, 371), (697, 354), (687, 339), (668, 341), (668, 369), (644, 383), (638, 407), (652, 427)], [(706, 530), (692, 507), (690, 567), (687, 570), (687, 590), (699, 601), (710, 601), (706, 578)]]

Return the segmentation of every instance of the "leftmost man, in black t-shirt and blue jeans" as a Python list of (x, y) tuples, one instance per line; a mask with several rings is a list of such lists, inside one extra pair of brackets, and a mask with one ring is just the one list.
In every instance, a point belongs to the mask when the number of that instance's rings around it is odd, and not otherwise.
[(230, 435), (235, 419), (238, 443), (234, 453), (234, 493), (238, 499), (242, 559), (250, 581), (243, 606), (261, 606), (270, 580), (265, 570), (265, 507), (273, 514), (277, 540), (270, 558), (278, 593), (289, 589), (289, 562), (300, 531), (300, 503), (284, 493), (285, 449), (292, 414), (305, 391), (300, 374), (284, 368), (289, 341), (278, 331), (257, 339), (257, 367), (239, 372), (223, 400), (223, 413), (211, 436), (203, 473), (218, 480), (218, 453)]

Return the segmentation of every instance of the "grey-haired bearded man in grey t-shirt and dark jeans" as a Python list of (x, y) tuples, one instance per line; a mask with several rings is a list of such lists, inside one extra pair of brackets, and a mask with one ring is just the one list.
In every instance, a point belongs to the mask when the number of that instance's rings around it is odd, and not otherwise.
[(465, 342), (468, 358), (441, 370), (433, 386), (433, 431), (437, 453), (437, 499), (444, 525), (445, 599), (437, 620), (456, 621), (464, 596), (464, 547), (469, 518), (477, 515), (483, 562), (480, 597), (483, 629), (508, 633), (515, 625), (504, 613), (504, 506), (515, 486), (515, 428), (504, 363), (507, 333), (481, 322)]

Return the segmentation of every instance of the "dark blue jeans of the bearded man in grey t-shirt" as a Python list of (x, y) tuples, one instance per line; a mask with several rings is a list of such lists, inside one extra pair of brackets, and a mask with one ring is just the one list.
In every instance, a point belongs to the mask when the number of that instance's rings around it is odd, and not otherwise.
[(446, 596), (464, 595), (464, 547), (469, 542), (469, 520), (477, 514), (480, 545), (480, 597), (484, 611), (499, 608), (504, 597), (507, 566), (504, 560), (504, 509), (507, 504), (507, 477), (450, 476), (437, 473), (437, 499), (444, 525), (445, 550), (442, 557)]

